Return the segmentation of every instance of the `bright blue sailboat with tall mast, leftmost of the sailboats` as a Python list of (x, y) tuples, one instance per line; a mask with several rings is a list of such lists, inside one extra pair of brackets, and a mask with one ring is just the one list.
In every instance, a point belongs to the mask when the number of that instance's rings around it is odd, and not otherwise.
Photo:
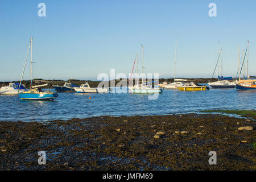
[(28, 46), (28, 50), (27, 50), (27, 56), (26, 56), (26, 61), (23, 67), (23, 72), (22, 72), (22, 77), (20, 78), (20, 84), (19, 84), (19, 88), (20, 89), (20, 85), (22, 82), (22, 78), (24, 75), (24, 70), (26, 68), (26, 63), (27, 63), (27, 57), (28, 57), (28, 52), (30, 51), (31, 48), (31, 56), (30, 56), (30, 90), (28, 91), (24, 91), (22, 93), (19, 93), (19, 97), (22, 100), (53, 100), (54, 98), (58, 97), (58, 94), (56, 92), (44, 92), (40, 87), (42, 86), (47, 86), (48, 84), (43, 84), (43, 85), (36, 85), (36, 86), (32, 86), (32, 38), (30, 39), (30, 44)]

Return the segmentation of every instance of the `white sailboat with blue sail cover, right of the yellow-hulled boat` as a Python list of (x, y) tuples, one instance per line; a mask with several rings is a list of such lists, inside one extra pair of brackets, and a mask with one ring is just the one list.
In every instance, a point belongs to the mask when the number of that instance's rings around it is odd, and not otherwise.
[[(218, 42), (219, 44), (219, 42)], [(218, 67), (218, 73), (219, 73), (219, 59), (220, 59), (220, 55), (221, 55), (221, 77), (218, 76), (218, 81), (214, 81), (214, 82), (208, 82), (208, 85), (210, 85), (212, 88), (235, 88), (236, 87), (236, 81), (232, 81), (234, 80), (233, 77), (223, 77), (222, 75), (222, 48), (220, 49), (220, 53), (218, 53), (218, 60), (217, 60), (217, 64), (216, 67)], [(214, 69), (213, 75), (216, 71), (216, 67)], [(212, 75), (212, 77), (213, 77)], [(219, 74), (218, 74), (219, 75)]]

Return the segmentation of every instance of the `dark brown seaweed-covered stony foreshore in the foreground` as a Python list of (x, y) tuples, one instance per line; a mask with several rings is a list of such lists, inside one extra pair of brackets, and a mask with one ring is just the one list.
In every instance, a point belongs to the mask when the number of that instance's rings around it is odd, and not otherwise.
[[(244, 126), (252, 130), (238, 130)], [(0, 169), (255, 170), (255, 126), (218, 114), (2, 121)], [(216, 165), (209, 151), (217, 152)]]

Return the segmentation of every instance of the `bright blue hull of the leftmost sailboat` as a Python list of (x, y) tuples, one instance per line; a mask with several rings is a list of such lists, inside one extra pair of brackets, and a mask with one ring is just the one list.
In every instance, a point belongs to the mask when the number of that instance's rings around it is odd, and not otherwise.
[(57, 93), (19, 93), (22, 100), (53, 100), (58, 96)]

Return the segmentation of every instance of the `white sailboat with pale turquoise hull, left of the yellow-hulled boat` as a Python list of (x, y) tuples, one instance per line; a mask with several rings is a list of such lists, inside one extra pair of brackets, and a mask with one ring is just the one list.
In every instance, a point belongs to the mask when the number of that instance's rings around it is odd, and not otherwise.
[[(142, 83), (139, 84), (139, 81), (137, 81), (137, 84), (134, 86), (128, 86), (129, 93), (162, 93), (163, 89), (161, 88), (152, 88), (152, 86), (148, 85), (148, 83), (144, 83), (144, 77), (143, 77), (143, 52), (144, 47), (142, 46)], [(138, 68), (138, 59), (137, 59), (137, 68)], [(137, 76), (138, 76), (138, 69), (137, 69)], [(137, 78), (138, 80), (138, 78)]]

